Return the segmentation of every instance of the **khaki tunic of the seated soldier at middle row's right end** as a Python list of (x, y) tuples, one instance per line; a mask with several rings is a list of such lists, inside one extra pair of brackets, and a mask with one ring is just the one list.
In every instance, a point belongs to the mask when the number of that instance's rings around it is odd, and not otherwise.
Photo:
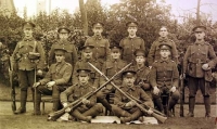
[(179, 72), (177, 64), (171, 60), (155, 61), (150, 73), (150, 83), (152, 87), (157, 86), (158, 88), (163, 86), (166, 86), (169, 89), (173, 86), (178, 88)]

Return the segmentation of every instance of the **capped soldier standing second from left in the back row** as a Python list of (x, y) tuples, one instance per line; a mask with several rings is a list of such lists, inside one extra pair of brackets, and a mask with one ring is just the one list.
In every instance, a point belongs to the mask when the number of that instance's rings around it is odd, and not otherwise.
[(55, 48), (63, 48), (67, 51), (65, 53), (65, 61), (69, 63), (72, 66), (78, 61), (77, 50), (73, 42), (68, 41), (71, 30), (66, 27), (60, 27), (58, 29), (59, 40), (52, 44), (49, 55), (49, 65), (55, 63), (54, 50)]

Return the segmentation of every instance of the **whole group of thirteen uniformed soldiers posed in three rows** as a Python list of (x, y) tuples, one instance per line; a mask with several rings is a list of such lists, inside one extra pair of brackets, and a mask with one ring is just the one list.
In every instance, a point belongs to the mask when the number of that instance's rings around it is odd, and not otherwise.
[[(33, 37), (35, 24), (24, 23), (24, 38), (17, 42), (12, 55), (13, 70), (18, 75), (21, 87), (21, 107), (14, 114), (26, 112), (27, 88), (31, 87), (35, 107), (33, 115), (41, 114), (41, 94), (49, 94), (53, 101), (52, 112), (67, 107), (65, 112), (76, 120), (90, 121), (106, 108), (110, 115), (118, 116), (122, 122), (129, 122), (143, 115), (151, 115), (153, 108), (165, 113), (162, 95), (166, 94), (169, 98), (167, 116), (173, 117), (175, 114), (171, 111), (180, 96), (176, 43), (167, 38), (166, 26), (162, 26), (159, 38), (145, 52), (144, 40), (137, 36), (138, 23), (128, 22), (126, 27), (129, 35), (119, 44), (110, 46), (110, 41), (102, 37), (103, 24), (94, 23), (94, 35), (81, 48), (80, 60), (75, 44), (68, 41), (71, 30), (60, 27), (59, 39), (49, 52), (49, 70), (44, 75), (44, 51), (41, 42)], [(210, 117), (208, 83), (212, 80), (210, 69), (215, 67), (217, 57), (213, 47), (204, 40), (205, 29), (204, 26), (193, 28), (196, 41), (189, 44), (183, 57), (181, 77), (189, 78), (189, 117), (194, 116), (199, 88), (204, 96), (205, 117)], [(123, 73), (113, 78), (127, 65)], [(42, 75), (42, 79), (36, 78)], [(110, 78), (113, 80), (107, 82)], [(104, 83), (105, 87), (90, 99), (84, 98)], [(120, 90), (116, 90), (116, 87)], [(129, 100), (120, 91), (140, 100), (142, 106), (150, 107), (148, 112), (143, 113), (135, 100)], [(81, 105), (69, 108), (68, 104), (78, 99), (81, 99)]]

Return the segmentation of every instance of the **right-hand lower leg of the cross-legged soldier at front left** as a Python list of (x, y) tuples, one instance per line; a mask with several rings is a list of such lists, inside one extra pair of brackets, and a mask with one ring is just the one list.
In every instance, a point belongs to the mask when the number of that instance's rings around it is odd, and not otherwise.
[(95, 117), (100, 113), (103, 112), (103, 106), (100, 103), (97, 103), (94, 106), (92, 106), (90, 109), (86, 111), (82, 115), (84, 116), (92, 116)]

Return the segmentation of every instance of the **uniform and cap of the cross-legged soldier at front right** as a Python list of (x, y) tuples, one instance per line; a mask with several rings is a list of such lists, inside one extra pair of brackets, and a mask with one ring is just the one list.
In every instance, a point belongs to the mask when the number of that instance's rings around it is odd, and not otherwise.
[[(136, 72), (133, 70), (126, 70), (123, 73), (123, 77), (132, 76), (136, 76)], [(129, 87), (122, 85), (120, 90), (129, 93), (131, 96), (139, 99), (141, 102), (143, 102), (143, 104), (153, 107), (153, 102), (151, 98), (139, 86)], [(114, 115), (120, 117), (122, 122), (136, 120), (143, 115), (142, 111), (136, 105), (128, 105), (129, 102), (130, 100), (123, 95), (119, 91), (115, 92), (114, 105), (112, 105), (112, 111)]]

